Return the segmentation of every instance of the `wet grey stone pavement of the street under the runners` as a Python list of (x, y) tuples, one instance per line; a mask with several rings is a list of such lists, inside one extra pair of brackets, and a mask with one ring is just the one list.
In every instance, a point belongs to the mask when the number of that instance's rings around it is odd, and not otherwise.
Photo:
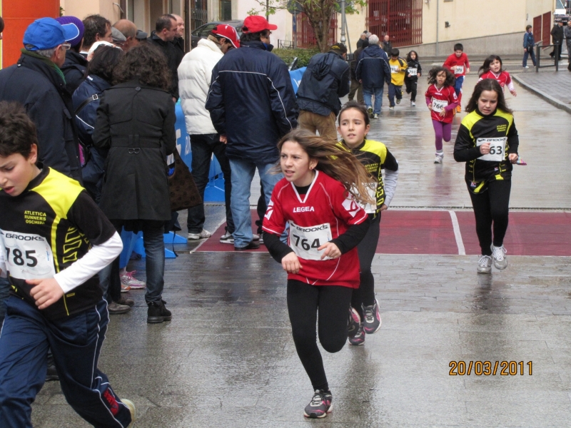
[[(474, 84), (468, 77), (463, 104)], [(445, 162), (434, 165), (425, 83), (419, 86), (418, 107), (408, 106), (408, 97), (394, 112), (383, 106), (370, 135), (387, 143), (400, 163), (393, 206), (470, 207), (463, 164), (452, 158), (460, 118), (445, 144)], [(523, 88), (517, 92), (507, 98), (529, 165), (515, 170), (511, 206), (570, 210), (570, 116)], [(222, 221), (223, 207), (208, 205), (206, 229)], [(474, 255), (375, 255), (383, 327), (363, 347), (322, 351), (335, 409), (307, 420), (303, 408), (312, 390), (290, 337), (280, 265), (267, 253), (189, 254), (196, 245), (175, 245), (179, 257), (166, 260), (163, 297), (171, 322), (146, 324), (144, 291), (129, 293), (136, 301), (130, 313), (111, 317), (100, 367), (138, 407), (134, 427), (571, 423), (571, 258), (508, 253), (506, 270), (478, 275)], [(144, 279), (143, 260), (131, 269)], [(495, 375), (477, 374), (484, 366), (477, 362), (486, 361), (490, 371), (499, 362)], [(500, 374), (502, 361), (507, 375)], [(465, 370), (474, 363), (470, 375), (450, 375), (450, 362), (465, 362)], [(46, 383), (32, 419), (35, 427), (87, 426), (58, 382)]]

